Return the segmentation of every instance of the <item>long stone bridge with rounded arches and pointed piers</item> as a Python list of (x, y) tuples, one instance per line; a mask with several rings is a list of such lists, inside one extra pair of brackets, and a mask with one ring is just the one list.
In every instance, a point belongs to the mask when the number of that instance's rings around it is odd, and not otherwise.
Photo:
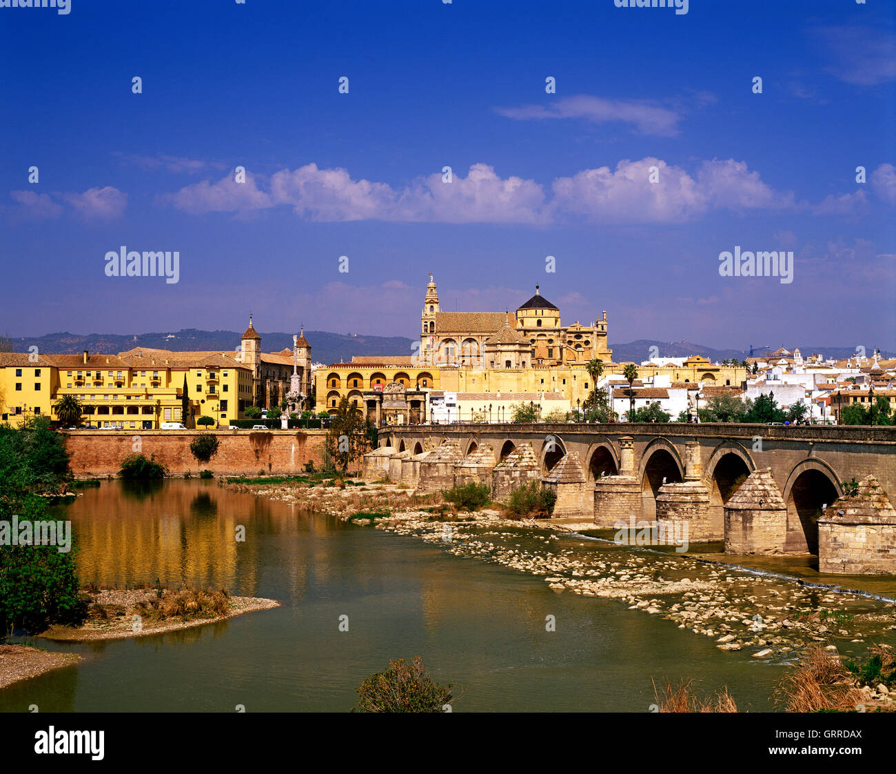
[[(416, 460), (412, 475), (419, 476), (422, 484), (427, 472), (435, 475), (435, 488), (452, 483), (435, 473), (439, 470), (435, 465), (426, 465), (427, 458), (435, 463), (436, 457), (458, 457), (454, 465), (461, 473), (472, 469), (473, 463), (481, 463), (480, 471), (494, 467), (494, 474), (478, 478), (491, 483), (496, 494), (504, 461), (517, 450), (514, 468), (533, 468), (530, 477), (559, 486), (559, 494), (569, 490), (560, 498), (564, 503), (558, 500), (564, 515), (593, 518), (596, 526), (606, 528), (620, 518), (660, 526), (687, 520), (692, 542), (724, 539), (726, 550), (735, 553), (818, 553), (820, 539), (836, 542), (838, 537), (827, 535), (823, 527), (820, 538), (819, 526), (835, 501), (842, 504), (843, 483), (863, 482), (872, 476), (878, 485), (874, 492), (883, 491), (883, 500), (874, 495), (875, 502), (880, 500), (874, 506), (874, 518), (884, 522), (892, 514), (886, 492), (896, 491), (896, 427), (419, 425), (381, 429), (379, 446), (382, 450), (374, 453), (379, 457)], [(522, 446), (530, 447), (525, 459), (520, 455)], [(401, 466), (397, 470), (401, 472)], [(395, 471), (393, 464), (392, 474)], [(577, 486), (564, 486), (567, 483)], [(742, 488), (745, 483), (749, 485)], [(881, 509), (883, 516), (878, 513)], [(829, 530), (838, 531), (838, 527)], [(892, 537), (892, 545), (887, 543), (885, 552), (896, 568), (896, 520), (884, 531), (893, 533), (886, 537), (888, 541)], [(857, 551), (867, 548), (858, 546)]]

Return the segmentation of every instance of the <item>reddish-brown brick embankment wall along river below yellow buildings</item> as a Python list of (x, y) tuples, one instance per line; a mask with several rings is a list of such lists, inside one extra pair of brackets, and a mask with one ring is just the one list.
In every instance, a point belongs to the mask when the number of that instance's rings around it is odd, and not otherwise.
[(308, 460), (323, 466), (325, 430), (211, 430), (220, 442), (218, 454), (200, 465), (190, 452), (196, 430), (78, 430), (68, 434), (65, 447), (71, 455), (73, 473), (79, 478), (115, 475), (121, 461), (140, 452), (168, 466), (171, 475), (200, 469), (215, 474), (296, 474)]

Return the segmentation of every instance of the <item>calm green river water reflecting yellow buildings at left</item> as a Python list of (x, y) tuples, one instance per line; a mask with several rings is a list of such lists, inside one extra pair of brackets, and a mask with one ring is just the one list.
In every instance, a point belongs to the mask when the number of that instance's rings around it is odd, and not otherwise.
[[(0, 710), (342, 712), (364, 677), (419, 654), (440, 683), (466, 686), (458, 712), (646, 712), (651, 677), (664, 676), (727, 685), (739, 709), (762, 711), (783, 668), (722, 653), (619, 601), (558, 595), (499, 564), (215, 483), (141, 491), (104, 482), (60, 509), (73, 521), (84, 583), (160, 578), (281, 606), (139, 639), (36, 640), (84, 660), (0, 691)], [(237, 525), (246, 543), (234, 540)], [(556, 631), (545, 631), (547, 615)]]

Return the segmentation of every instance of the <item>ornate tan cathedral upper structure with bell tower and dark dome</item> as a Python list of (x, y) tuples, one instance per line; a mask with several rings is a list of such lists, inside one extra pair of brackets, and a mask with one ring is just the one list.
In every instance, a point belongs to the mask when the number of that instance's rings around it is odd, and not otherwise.
[(560, 309), (535, 295), (515, 312), (444, 312), (429, 275), (420, 316), (420, 362), (436, 367), (526, 369), (573, 366), (597, 358), (609, 363), (607, 312), (593, 326), (560, 324)]

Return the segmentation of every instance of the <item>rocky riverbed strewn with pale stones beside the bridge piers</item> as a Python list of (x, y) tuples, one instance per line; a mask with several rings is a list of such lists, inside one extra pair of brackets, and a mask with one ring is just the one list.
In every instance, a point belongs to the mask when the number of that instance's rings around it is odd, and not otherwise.
[[(896, 643), (896, 607), (886, 598), (824, 588), (724, 563), (655, 549), (619, 546), (571, 531), (560, 522), (507, 520), (494, 509), (439, 514), (439, 495), (419, 498), (392, 483), (249, 488), (275, 500), (323, 511), (356, 524), (412, 535), (458, 556), (495, 561), (543, 578), (556, 593), (604, 597), (745, 651), (766, 663), (790, 662), (814, 643), (847, 656), (874, 642)], [(421, 507), (423, 501), (432, 504)], [(358, 518), (358, 511), (382, 516)], [(354, 517), (353, 517), (354, 516)], [(884, 691), (876, 700), (889, 702)]]

